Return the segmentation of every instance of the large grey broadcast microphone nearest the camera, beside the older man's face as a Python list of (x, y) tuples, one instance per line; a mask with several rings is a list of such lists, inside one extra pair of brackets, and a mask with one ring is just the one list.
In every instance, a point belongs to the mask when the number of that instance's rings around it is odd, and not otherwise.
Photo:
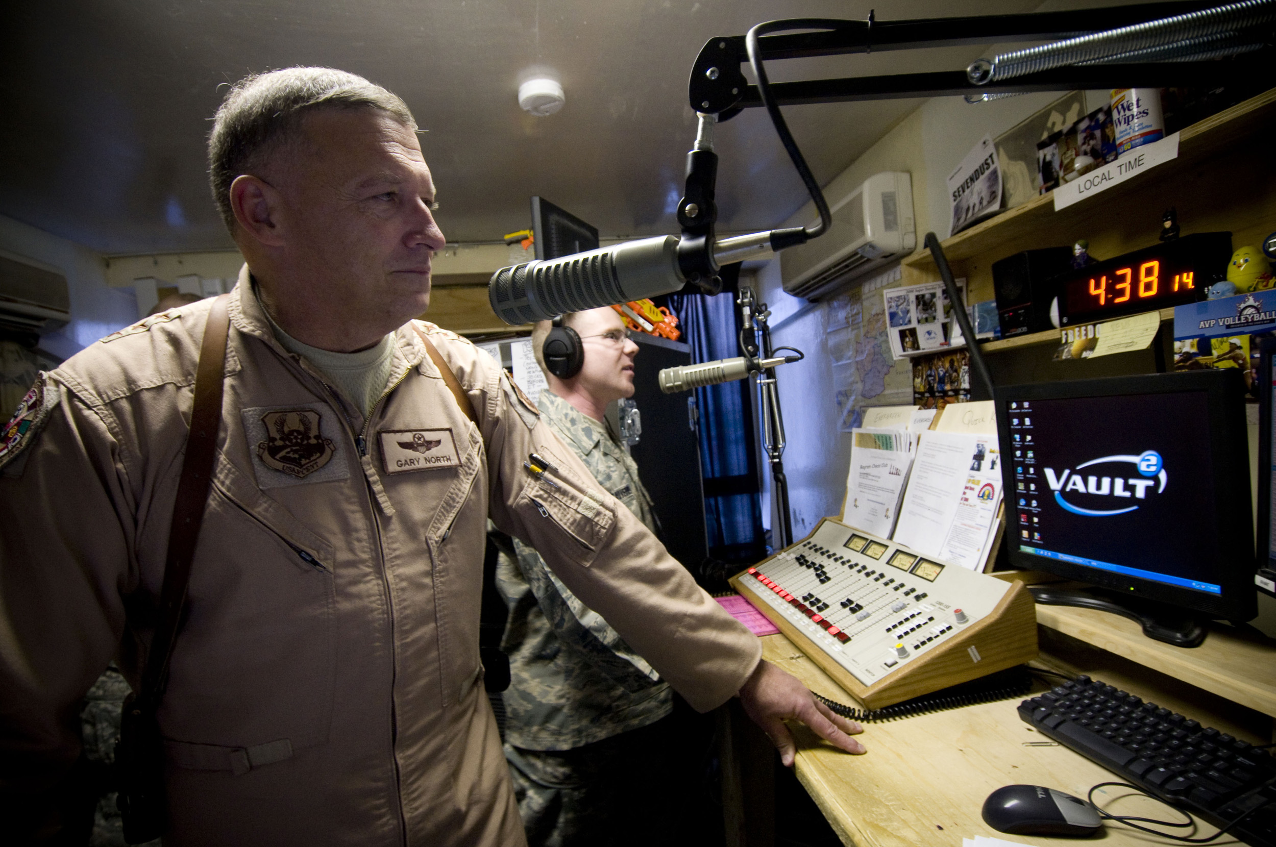
[[(713, 260), (723, 265), (758, 259), (804, 240), (801, 227), (718, 239), (713, 242)], [(501, 268), (487, 283), (487, 300), (501, 320), (517, 327), (569, 311), (672, 293), (686, 284), (679, 267), (679, 242), (678, 236), (658, 235)]]

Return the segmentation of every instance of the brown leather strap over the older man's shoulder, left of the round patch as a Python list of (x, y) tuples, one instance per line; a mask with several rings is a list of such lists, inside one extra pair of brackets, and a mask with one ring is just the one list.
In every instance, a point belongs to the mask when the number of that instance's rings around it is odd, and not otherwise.
[(163, 694), (168, 675), (168, 661), (181, 622), (181, 608), (186, 602), (190, 583), (190, 561), (195, 556), (199, 526), (204, 520), (208, 487), (212, 483), (213, 462), (217, 458), (217, 429), (222, 422), (222, 383), (226, 374), (226, 337), (230, 333), (230, 314), (226, 301), (230, 295), (213, 300), (204, 324), (204, 342), (199, 348), (199, 366), (195, 370), (195, 403), (190, 412), (190, 432), (186, 435), (186, 455), (181, 462), (181, 480), (172, 508), (168, 528), (168, 554), (165, 559), (163, 588), (160, 592), (160, 625), (151, 642), (151, 653), (142, 675), (142, 705), (156, 708)]

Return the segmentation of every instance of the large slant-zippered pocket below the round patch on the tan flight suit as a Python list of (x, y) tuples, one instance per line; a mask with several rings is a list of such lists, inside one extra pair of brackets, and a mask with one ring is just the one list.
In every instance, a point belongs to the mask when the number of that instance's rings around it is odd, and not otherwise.
[(160, 723), (180, 768), (241, 773), (328, 741), (333, 546), (221, 462)]

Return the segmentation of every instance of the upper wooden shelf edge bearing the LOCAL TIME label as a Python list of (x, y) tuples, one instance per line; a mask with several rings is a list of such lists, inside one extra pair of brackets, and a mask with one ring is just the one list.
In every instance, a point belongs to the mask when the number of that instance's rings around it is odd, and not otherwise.
[[(1064, 228), (1091, 218), (1096, 200), (1110, 203), (1114, 198), (1137, 191), (1142, 186), (1166, 180), (1203, 162), (1205, 159), (1240, 144), (1253, 144), (1256, 138), (1276, 124), (1276, 88), (1224, 110), (1212, 117), (1193, 124), (1179, 133), (1179, 156), (1146, 173), (1132, 177), (1079, 200), (1059, 212), (1054, 210), (1054, 193), (1003, 212), (970, 230), (942, 241), (948, 261), (956, 263), (980, 256), (1008, 241), (1016, 241), (1036, 232)], [(919, 239), (920, 242), (920, 239)], [(999, 256), (998, 256), (999, 258)], [(909, 268), (934, 272), (934, 259), (929, 250), (920, 250), (903, 260)]]

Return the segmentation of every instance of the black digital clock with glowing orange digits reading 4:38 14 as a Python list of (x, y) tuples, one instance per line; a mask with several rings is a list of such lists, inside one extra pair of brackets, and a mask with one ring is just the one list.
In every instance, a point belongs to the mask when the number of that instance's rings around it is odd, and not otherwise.
[(1198, 232), (1057, 278), (1059, 324), (1071, 327), (1205, 300), (1226, 277), (1230, 232)]

